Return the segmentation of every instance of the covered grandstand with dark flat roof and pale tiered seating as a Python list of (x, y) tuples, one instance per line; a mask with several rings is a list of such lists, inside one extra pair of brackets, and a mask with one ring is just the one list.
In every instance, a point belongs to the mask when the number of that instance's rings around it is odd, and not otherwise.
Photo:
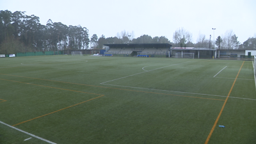
[(170, 56), (170, 44), (104, 44), (108, 51), (104, 56), (141, 56), (143, 57), (168, 57)]

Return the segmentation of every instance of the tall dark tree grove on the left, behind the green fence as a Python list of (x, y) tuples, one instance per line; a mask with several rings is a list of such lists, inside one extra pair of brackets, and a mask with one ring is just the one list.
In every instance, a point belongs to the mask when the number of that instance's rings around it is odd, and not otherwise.
[(88, 29), (61, 22), (40, 24), (39, 17), (24, 12), (0, 11), (0, 52), (61, 51), (85, 49), (90, 44)]

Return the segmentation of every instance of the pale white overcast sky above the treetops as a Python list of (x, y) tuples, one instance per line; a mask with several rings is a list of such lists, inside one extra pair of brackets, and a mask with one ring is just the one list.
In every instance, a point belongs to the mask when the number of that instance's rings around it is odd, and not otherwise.
[[(90, 37), (116, 36), (121, 31), (166, 36), (184, 28), (196, 42), (201, 33), (216, 39), (234, 31), (240, 42), (256, 36), (255, 0), (0, 0), (0, 10), (26, 12), (67, 26), (86, 27)], [(212, 30), (216, 28), (216, 30)]]

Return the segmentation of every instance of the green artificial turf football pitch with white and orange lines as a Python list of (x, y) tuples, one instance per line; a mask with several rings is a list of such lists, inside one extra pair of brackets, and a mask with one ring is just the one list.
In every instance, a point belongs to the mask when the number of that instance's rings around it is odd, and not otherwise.
[(0, 58), (0, 143), (256, 143), (255, 109), (252, 61)]

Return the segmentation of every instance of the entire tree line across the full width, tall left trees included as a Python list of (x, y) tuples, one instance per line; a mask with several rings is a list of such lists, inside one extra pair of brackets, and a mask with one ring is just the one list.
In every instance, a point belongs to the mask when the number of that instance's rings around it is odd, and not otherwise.
[(215, 49), (256, 49), (256, 35), (241, 43), (232, 30), (217, 36), (216, 40), (199, 34), (196, 42), (193, 35), (184, 28), (173, 33), (172, 42), (165, 36), (142, 35), (134, 38), (134, 32), (122, 31), (114, 37), (93, 34), (82, 26), (66, 26), (61, 22), (47, 21), (40, 24), (39, 17), (25, 15), (25, 12), (0, 11), (0, 53), (35, 51), (62, 51), (65, 49), (102, 49), (103, 44), (172, 44), (173, 47), (205, 47)]

